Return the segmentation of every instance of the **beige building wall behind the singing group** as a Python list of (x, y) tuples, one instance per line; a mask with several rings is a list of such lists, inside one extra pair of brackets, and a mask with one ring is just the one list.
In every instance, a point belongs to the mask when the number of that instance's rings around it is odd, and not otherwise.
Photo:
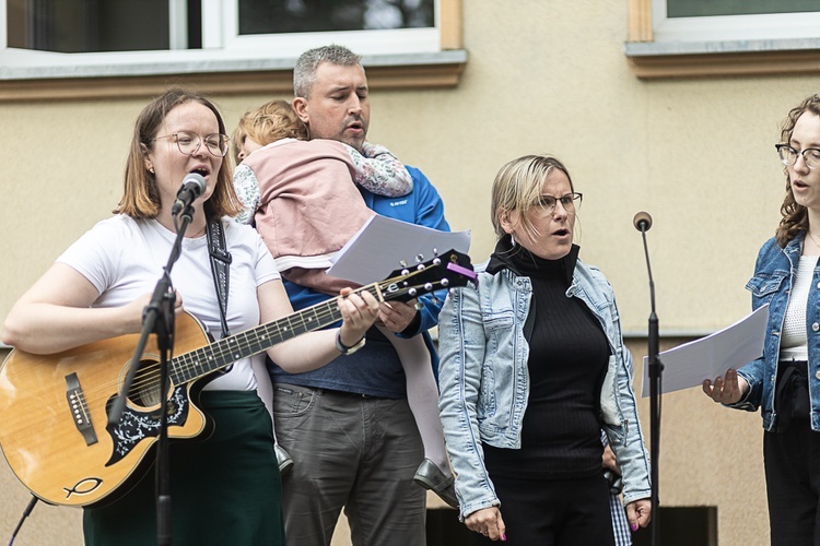
[[(655, 219), (647, 235), (661, 333), (702, 334), (745, 314), (743, 285), (778, 221), (778, 123), (818, 91), (818, 79), (640, 81), (623, 55), (625, 1), (464, 4), (469, 60), (460, 85), (374, 93), (371, 140), (423, 168), (453, 228), (472, 230), (473, 260), (493, 245), (488, 203), (499, 167), (551, 152), (585, 194), (582, 259), (608, 275), (628, 332), (645, 333), (648, 316), (643, 247), (632, 227), (642, 210)], [(271, 97), (214, 98), (233, 126)], [(116, 205), (144, 103), (0, 103), (0, 318)], [(637, 359), (643, 354), (635, 351)], [(721, 544), (765, 544), (759, 416), (716, 407), (695, 390), (668, 395), (664, 410), (661, 502), (717, 505)], [(26, 497), (8, 475), (2, 486), (0, 535)], [(75, 512), (38, 507), (28, 530), (61, 519), (75, 522)]]

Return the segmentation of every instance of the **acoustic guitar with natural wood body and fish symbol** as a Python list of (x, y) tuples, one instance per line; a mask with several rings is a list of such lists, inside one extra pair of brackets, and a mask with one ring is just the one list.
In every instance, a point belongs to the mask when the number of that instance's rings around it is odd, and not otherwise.
[[(377, 300), (408, 300), (465, 286), (476, 274), (469, 257), (450, 250), (395, 271), (355, 292)], [(192, 316), (176, 318), (168, 361), (168, 438), (191, 439), (209, 428), (197, 394), (209, 376), (341, 319), (337, 298), (212, 342)], [(153, 336), (152, 336), (153, 337)], [(105, 505), (141, 479), (160, 430), (160, 357), (150, 340), (127, 393), (122, 417), (108, 423), (133, 358), (139, 334), (121, 335), (51, 355), (13, 349), (0, 367), (0, 448), (36, 497), (62, 506)]]

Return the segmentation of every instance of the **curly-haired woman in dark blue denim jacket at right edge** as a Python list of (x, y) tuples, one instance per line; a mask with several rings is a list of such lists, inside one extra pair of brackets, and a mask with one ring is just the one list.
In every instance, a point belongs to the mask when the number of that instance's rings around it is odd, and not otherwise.
[(747, 284), (769, 304), (763, 356), (704, 381), (715, 402), (763, 416), (763, 459), (773, 545), (820, 544), (820, 97), (793, 108), (777, 153), (786, 195), (775, 236)]

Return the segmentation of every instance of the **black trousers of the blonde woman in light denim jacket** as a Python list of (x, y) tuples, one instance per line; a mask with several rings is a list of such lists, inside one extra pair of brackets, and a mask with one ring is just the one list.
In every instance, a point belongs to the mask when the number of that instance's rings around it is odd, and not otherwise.
[(471, 533), (475, 546), (608, 546), (614, 544), (604, 474), (579, 479), (491, 476), (507, 542)]

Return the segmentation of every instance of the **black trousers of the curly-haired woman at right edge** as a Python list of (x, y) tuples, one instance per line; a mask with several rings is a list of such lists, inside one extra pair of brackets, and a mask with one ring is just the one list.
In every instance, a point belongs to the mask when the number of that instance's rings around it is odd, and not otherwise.
[(775, 393), (777, 430), (763, 436), (772, 546), (820, 546), (820, 432), (809, 425), (806, 364), (789, 368)]

